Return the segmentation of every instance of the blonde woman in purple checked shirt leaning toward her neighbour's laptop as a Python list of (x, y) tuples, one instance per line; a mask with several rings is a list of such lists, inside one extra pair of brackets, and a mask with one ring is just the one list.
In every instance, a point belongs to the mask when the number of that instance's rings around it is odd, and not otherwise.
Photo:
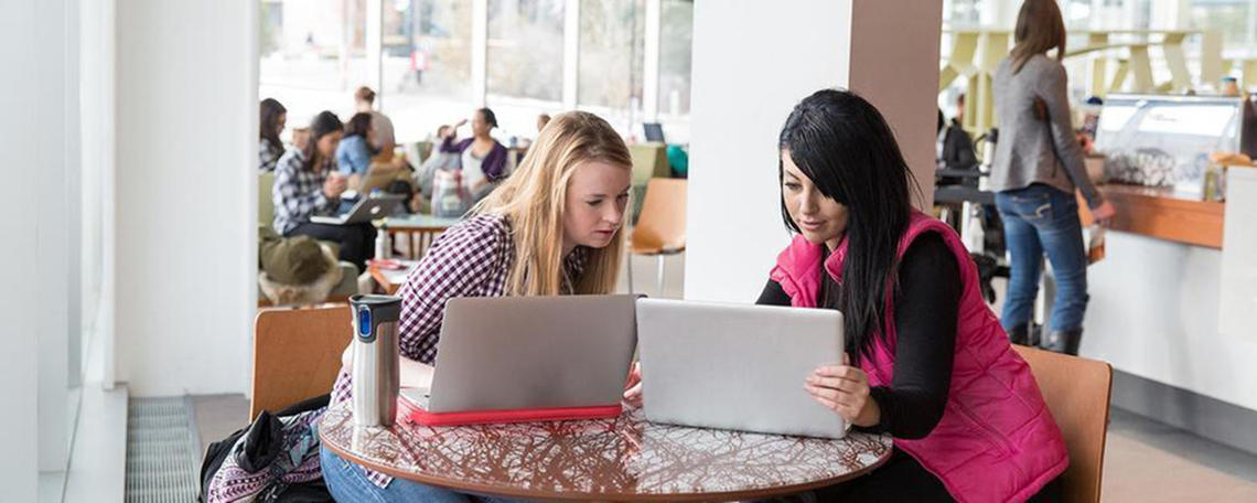
[[(611, 293), (631, 166), (628, 148), (606, 121), (586, 112), (556, 117), (515, 172), (442, 234), (406, 279), (400, 292), (402, 386), (431, 384), (450, 298)], [(343, 362), (333, 404), (349, 399), (348, 351)], [(327, 449), (322, 463), (337, 500), (473, 500), (370, 472)]]

